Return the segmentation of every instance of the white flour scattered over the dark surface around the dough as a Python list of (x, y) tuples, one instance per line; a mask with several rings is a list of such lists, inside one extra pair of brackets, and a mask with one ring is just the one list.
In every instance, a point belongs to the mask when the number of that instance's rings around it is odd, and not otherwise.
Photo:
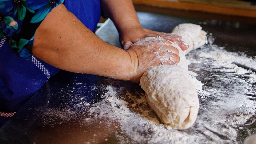
[(46, 109), (43, 125), (68, 124), (77, 119), (82, 127), (97, 123), (93, 129), (113, 130), (105, 135), (96, 131), (84, 143), (100, 142), (99, 137), (108, 143), (242, 143), (256, 132), (256, 60), (227, 52), (210, 38), (210, 44), (187, 55), (200, 100), (198, 117), (189, 129), (179, 131), (165, 126), (139, 86), (134, 88), (132, 83), (110, 78), (95, 86), (103, 89), (102, 100), (86, 102), (81, 94), (72, 102), (84, 107), (84, 115), (77, 118), (77, 112), (70, 107)]

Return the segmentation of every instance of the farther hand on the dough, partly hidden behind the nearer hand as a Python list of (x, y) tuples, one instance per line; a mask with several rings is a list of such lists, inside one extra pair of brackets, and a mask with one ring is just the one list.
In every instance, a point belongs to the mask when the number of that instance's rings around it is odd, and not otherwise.
[(162, 37), (166, 40), (175, 42), (180, 46), (182, 50), (188, 49), (188, 45), (181, 40), (181, 36), (173, 35), (170, 33), (162, 33), (157, 31), (152, 31), (141, 27), (139, 24), (134, 24), (134, 26), (127, 26), (122, 32), (120, 32), (120, 43), (124, 50), (127, 50), (132, 44), (145, 37)]

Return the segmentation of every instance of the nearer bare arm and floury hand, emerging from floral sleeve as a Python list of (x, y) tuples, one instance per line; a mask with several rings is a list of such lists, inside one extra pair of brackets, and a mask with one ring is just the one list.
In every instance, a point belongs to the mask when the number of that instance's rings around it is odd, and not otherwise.
[(170, 50), (174, 53), (168, 55), (174, 56), (175, 63), (179, 61), (176, 48), (166, 45), (168, 42), (152, 44), (147, 47), (134, 45), (127, 51), (109, 45), (60, 4), (36, 30), (32, 52), (39, 59), (66, 71), (139, 82), (148, 68), (160, 65), (160, 58), (156, 58), (155, 53)]

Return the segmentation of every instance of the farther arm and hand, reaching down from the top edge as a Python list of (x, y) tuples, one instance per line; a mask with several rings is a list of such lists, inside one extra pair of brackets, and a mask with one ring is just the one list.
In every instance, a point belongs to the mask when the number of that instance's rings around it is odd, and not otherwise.
[(115, 23), (119, 32), (120, 43), (125, 50), (133, 43), (149, 36), (160, 36), (176, 42), (182, 50), (188, 49), (188, 45), (181, 41), (180, 36), (143, 28), (139, 23), (132, 0), (101, 0), (101, 5), (103, 12)]

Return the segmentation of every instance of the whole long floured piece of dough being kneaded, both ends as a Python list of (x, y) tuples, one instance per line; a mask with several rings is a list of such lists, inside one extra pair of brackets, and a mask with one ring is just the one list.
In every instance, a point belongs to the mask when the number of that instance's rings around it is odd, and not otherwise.
[[(188, 74), (185, 53), (207, 43), (206, 32), (199, 25), (180, 24), (172, 34), (182, 36), (189, 50), (182, 51), (172, 42), (180, 54), (177, 66), (161, 65), (148, 69), (140, 79), (148, 104), (161, 121), (173, 129), (187, 129), (197, 118), (199, 100), (192, 77)], [(152, 38), (151, 38), (152, 39)]]

